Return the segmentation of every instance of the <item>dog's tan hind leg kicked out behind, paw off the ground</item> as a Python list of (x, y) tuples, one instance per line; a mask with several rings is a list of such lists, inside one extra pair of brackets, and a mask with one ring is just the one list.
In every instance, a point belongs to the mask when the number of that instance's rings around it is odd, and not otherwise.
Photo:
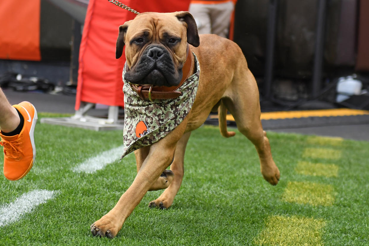
[(233, 115), (238, 130), (255, 145), (264, 179), (270, 184), (276, 185), (280, 173), (272, 157), (269, 139), (262, 128), (259, 91), (250, 70), (240, 69), (235, 73), (234, 80), (223, 101)]

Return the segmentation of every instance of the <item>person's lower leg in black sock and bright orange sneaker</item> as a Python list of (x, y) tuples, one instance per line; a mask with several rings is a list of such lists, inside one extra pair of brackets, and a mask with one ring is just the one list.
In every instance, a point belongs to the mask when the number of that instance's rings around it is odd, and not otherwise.
[(8, 180), (23, 178), (33, 166), (36, 122), (37, 111), (31, 103), (10, 106), (0, 89), (0, 145), (4, 148), (4, 176)]

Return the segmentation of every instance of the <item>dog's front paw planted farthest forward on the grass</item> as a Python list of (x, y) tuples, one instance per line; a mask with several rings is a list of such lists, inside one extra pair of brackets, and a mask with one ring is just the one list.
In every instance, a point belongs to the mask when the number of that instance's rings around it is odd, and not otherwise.
[(109, 216), (104, 215), (101, 219), (94, 222), (90, 226), (90, 230), (93, 236), (99, 236), (100, 238), (114, 238), (122, 228), (122, 225), (117, 224)]

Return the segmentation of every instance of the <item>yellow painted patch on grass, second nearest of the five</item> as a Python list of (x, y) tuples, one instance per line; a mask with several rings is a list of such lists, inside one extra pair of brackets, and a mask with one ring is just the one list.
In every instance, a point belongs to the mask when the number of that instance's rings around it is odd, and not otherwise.
[(331, 206), (334, 202), (333, 187), (329, 184), (289, 182), (282, 200), (313, 206)]

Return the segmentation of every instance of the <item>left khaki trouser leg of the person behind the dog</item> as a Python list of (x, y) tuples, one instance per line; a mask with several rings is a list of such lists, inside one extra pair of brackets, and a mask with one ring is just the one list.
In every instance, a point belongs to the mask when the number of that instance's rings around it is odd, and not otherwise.
[(208, 4), (190, 3), (188, 11), (196, 21), (199, 34), (210, 34), (211, 23)]

